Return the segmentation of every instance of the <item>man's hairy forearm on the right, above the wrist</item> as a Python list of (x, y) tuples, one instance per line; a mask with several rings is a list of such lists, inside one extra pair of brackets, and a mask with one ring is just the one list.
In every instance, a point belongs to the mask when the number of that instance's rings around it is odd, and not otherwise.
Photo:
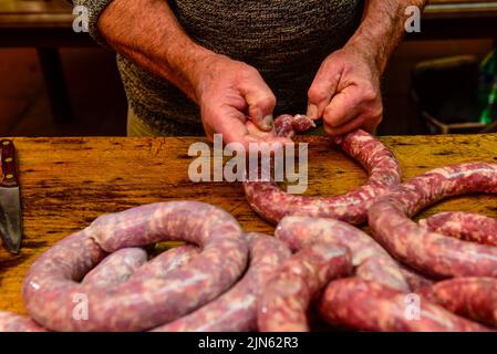
[(405, 10), (416, 6), (421, 10), (427, 0), (369, 0), (364, 18), (348, 44), (367, 49), (380, 73), (383, 73), (390, 55), (401, 42), (410, 14)]

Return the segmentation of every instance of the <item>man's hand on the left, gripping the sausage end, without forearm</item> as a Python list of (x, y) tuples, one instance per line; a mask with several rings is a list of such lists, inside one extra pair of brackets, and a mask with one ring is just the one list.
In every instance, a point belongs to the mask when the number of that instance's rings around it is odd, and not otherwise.
[(276, 138), (276, 97), (252, 66), (211, 54), (195, 67), (195, 95), (207, 136), (222, 134), (224, 142), (286, 143)]

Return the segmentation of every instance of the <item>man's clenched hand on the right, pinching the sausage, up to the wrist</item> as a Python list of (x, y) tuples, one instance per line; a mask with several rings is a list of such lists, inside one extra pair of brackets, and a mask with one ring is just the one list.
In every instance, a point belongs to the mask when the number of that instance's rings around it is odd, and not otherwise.
[(345, 45), (329, 55), (309, 88), (308, 116), (323, 118), (329, 135), (374, 132), (382, 119), (380, 71), (367, 50)]

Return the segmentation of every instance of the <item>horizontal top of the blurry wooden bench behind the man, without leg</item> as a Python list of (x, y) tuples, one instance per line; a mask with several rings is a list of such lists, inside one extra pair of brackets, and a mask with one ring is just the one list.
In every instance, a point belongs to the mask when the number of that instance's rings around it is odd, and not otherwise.
[[(72, 30), (65, 0), (1, 0), (0, 46), (94, 46)], [(407, 40), (497, 38), (497, 0), (429, 0), (420, 33)]]

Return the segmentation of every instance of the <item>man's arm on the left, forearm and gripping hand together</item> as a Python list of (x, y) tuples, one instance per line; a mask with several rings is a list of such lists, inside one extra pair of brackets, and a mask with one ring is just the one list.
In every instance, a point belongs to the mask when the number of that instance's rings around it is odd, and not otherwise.
[(188, 37), (165, 0), (113, 0), (99, 31), (118, 53), (179, 87), (200, 108), (209, 138), (275, 140), (276, 97), (252, 66), (217, 54)]

